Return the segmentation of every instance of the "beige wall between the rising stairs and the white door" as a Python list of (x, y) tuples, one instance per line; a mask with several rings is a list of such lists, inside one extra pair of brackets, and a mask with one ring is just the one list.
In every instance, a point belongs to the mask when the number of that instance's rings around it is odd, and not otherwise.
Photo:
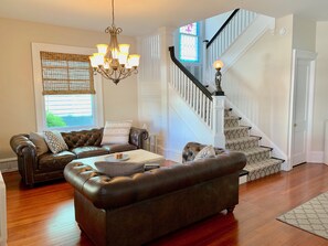
[[(286, 33), (281, 34), (279, 30)], [(293, 17), (276, 20), (224, 75), (228, 98), (287, 154)]]

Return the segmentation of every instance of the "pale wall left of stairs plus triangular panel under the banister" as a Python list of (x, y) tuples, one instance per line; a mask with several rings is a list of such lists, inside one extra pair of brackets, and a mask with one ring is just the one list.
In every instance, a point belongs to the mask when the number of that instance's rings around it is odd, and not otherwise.
[(211, 143), (213, 138), (207, 138), (212, 135), (211, 130), (168, 84), (171, 60), (168, 47), (173, 43), (173, 29), (163, 28), (138, 39), (138, 52), (142, 57), (138, 104), (140, 124), (146, 124), (149, 132), (157, 135), (157, 151), (180, 161), (188, 141)]

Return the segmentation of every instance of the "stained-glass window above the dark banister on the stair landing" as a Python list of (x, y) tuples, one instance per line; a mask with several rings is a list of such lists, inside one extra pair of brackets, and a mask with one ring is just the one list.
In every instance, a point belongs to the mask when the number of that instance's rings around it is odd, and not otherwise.
[(182, 62), (199, 62), (198, 23), (191, 23), (179, 29), (179, 54)]

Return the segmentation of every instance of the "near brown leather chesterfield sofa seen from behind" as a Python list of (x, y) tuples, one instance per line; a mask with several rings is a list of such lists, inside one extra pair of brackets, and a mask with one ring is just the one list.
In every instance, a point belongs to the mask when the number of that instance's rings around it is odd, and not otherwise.
[[(71, 162), (75, 220), (97, 246), (141, 245), (239, 203), (241, 152), (177, 163), (129, 177)], [(110, 164), (110, 163), (108, 163)]]

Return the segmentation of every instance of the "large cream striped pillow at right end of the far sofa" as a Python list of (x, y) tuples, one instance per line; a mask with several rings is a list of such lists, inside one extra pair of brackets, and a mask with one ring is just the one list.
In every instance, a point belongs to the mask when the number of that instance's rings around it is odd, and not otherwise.
[(131, 126), (131, 120), (106, 121), (102, 146), (106, 143), (128, 143)]

